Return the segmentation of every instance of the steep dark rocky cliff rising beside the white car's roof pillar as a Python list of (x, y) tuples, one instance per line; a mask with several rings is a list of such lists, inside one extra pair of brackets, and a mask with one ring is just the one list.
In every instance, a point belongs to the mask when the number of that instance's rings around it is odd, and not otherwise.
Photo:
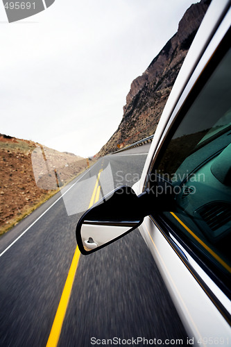
[(142, 76), (131, 84), (119, 128), (99, 152), (105, 155), (155, 132), (164, 105), (189, 46), (211, 0), (191, 5), (180, 20), (178, 32), (166, 43)]

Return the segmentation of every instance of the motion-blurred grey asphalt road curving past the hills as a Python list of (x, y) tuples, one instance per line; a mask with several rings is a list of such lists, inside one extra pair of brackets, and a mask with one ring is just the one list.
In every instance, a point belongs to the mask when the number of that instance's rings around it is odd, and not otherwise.
[[(103, 169), (101, 194), (132, 186), (148, 148), (99, 160), (0, 238), (0, 346), (46, 346), (76, 250), (76, 223), (96, 175)], [(186, 346), (186, 332), (138, 230), (80, 255), (58, 346), (93, 346), (91, 341), (113, 337), (183, 339)]]

